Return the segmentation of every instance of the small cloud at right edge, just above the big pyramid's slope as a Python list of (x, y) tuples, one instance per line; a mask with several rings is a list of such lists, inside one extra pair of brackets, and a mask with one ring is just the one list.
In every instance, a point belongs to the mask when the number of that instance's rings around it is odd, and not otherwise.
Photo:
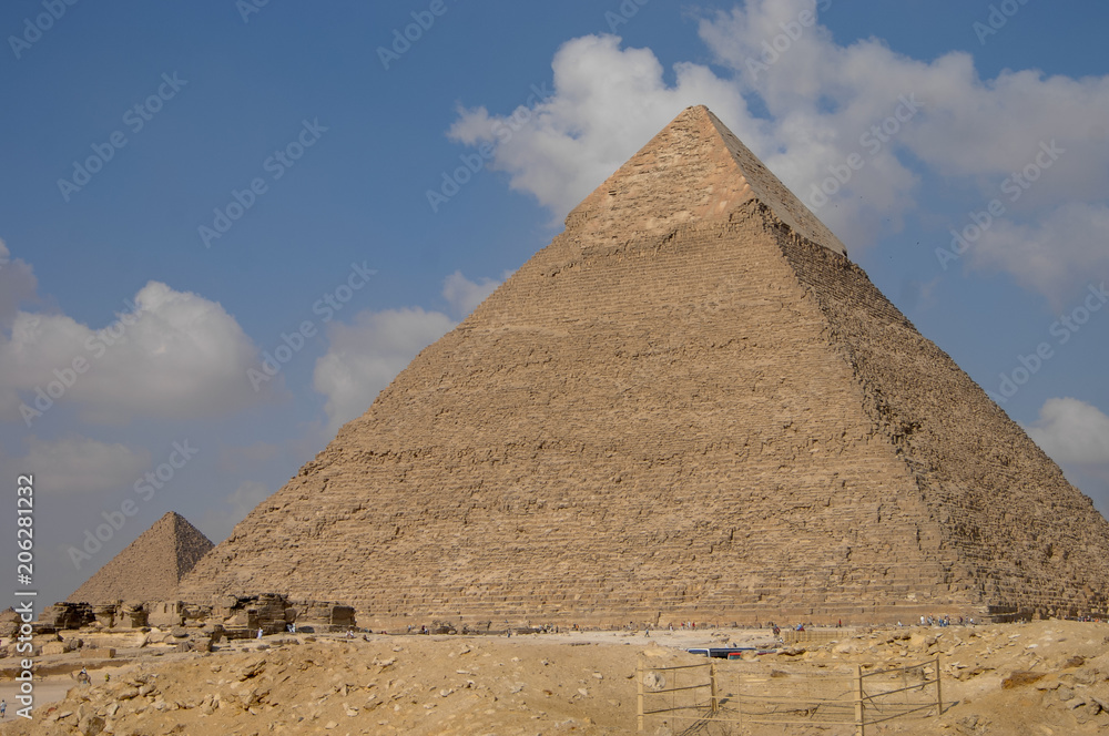
[(1048, 399), (1028, 436), (1056, 462), (1109, 463), (1109, 417), (1078, 399)]

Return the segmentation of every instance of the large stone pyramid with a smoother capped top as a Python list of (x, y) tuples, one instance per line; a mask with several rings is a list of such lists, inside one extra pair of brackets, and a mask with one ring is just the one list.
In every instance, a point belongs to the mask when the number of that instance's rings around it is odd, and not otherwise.
[(1109, 523), (705, 108), (186, 576), (359, 621), (1105, 610)]

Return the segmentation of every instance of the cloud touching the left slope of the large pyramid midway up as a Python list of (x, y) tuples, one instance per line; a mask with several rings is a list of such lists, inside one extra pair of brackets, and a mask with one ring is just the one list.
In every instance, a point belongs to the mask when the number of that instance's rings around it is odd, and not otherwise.
[(327, 431), (362, 416), (377, 395), (425, 347), (455, 327), (440, 311), (419, 307), (362, 311), (354, 324), (333, 323), (326, 355), (316, 360), (313, 386), (327, 397)]

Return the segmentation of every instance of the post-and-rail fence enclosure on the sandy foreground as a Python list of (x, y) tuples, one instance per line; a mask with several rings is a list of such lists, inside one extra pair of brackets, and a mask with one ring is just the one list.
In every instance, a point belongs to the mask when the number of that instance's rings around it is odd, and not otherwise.
[(708, 660), (651, 665), (640, 660), (640, 732), (729, 734), (732, 727), (867, 726), (943, 712), (939, 657), (903, 667), (817, 667)]

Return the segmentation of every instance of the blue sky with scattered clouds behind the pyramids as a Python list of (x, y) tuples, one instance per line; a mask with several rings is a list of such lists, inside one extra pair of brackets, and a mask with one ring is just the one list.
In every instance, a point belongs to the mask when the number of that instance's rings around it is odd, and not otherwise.
[(222, 540), (699, 103), (1109, 512), (1107, 27), (1044, 0), (4, 3), (0, 477), (34, 473), (37, 586), (170, 510)]

